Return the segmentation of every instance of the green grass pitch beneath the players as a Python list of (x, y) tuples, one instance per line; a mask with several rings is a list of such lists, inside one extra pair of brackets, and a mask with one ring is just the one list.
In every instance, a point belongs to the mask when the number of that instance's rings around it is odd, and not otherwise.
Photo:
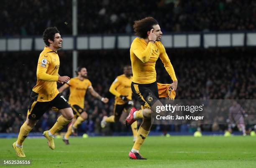
[[(14, 138), (0, 139), (0, 159), (17, 159)], [(148, 136), (140, 153), (148, 160), (130, 160), (132, 137), (70, 138), (70, 145), (55, 139), (51, 150), (45, 138), (28, 138), (23, 144), (32, 167), (144, 167), (242, 168), (256, 167), (256, 137), (250, 136)], [(3, 166), (3, 165), (0, 165)], [(11, 166), (6, 166), (11, 167)], [(15, 166), (17, 167), (17, 166)]]

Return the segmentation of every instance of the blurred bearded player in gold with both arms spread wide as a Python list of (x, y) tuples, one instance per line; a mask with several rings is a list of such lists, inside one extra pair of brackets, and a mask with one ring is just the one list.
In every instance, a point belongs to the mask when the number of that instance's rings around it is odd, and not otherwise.
[(108, 103), (108, 98), (100, 96), (93, 89), (92, 83), (89, 79), (87, 79), (87, 69), (85, 67), (78, 67), (76, 73), (77, 77), (70, 79), (69, 82), (59, 88), (59, 92), (61, 93), (69, 87), (69, 104), (71, 105), (74, 113), (74, 120), (72, 121), (72, 124), (69, 125), (68, 131), (63, 137), (63, 141), (67, 145), (69, 144), (69, 136), (72, 133), (74, 136), (77, 136), (77, 126), (87, 119), (87, 113), (84, 110), (84, 96), (87, 89), (90, 91), (92, 96), (103, 101), (104, 103)]

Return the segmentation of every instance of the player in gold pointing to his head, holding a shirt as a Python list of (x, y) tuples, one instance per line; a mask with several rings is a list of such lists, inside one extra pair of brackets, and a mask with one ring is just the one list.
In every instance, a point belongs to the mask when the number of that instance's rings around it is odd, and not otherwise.
[(135, 98), (145, 109), (137, 111), (135, 108), (132, 108), (125, 120), (125, 124), (128, 126), (139, 118), (143, 119), (129, 157), (132, 159), (146, 159), (140, 155), (139, 149), (151, 128), (151, 112), (155, 112), (151, 111), (151, 108), (154, 109), (154, 106), (157, 104), (161, 105), (155, 69), (156, 61), (159, 57), (173, 80), (169, 88), (175, 91), (178, 81), (165, 48), (160, 42), (162, 32), (158, 22), (153, 17), (146, 17), (135, 21), (133, 28), (139, 38), (136, 37), (133, 40), (130, 49), (133, 70), (131, 89)]

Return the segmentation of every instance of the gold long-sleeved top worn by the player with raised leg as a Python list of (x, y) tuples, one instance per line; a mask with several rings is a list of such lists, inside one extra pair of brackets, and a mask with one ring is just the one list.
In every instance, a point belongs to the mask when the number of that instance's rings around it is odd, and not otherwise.
[(151, 84), (156, 82), (156, 61), (160, 57), (164, 67), (173, 81), (176, 81), (174, 69), (161, 42), (147, 43), (136, 37), (130, 49), (133, 82)]

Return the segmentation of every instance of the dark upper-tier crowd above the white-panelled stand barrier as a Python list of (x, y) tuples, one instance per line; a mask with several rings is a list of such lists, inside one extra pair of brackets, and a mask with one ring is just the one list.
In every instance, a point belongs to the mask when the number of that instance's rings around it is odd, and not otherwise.
[[(177, 2), (78, 0), (78, 33), (132, 33), (133, 21), (146, 16), (163, 32), (256, 30), (255, 0), (179, 0), (174, 7)], [(72, 34), (72, 0), (3, 0), (0, 13), (0, 36), (41, 35), (49, 26)]]

